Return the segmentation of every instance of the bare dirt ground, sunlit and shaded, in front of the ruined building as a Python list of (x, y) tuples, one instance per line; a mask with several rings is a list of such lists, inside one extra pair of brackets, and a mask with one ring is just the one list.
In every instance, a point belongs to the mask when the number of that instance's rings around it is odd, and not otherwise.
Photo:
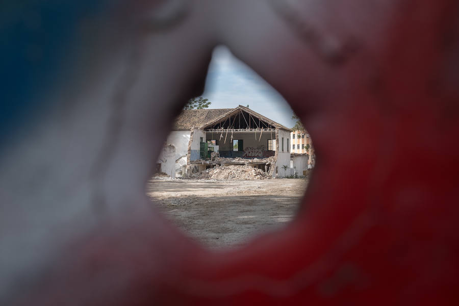
[(187, 235), (210, 248), (238, 246), (290, 221), (308, 179), (151, 180), (146, 193)]

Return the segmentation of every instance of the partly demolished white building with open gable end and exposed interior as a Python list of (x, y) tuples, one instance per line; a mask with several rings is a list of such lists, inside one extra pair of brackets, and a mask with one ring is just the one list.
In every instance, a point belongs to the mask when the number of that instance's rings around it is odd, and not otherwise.
[(241, 105), (234, 109), (184, 110), (167, 137), (158, 168), (176, 177), (217, 165), (244, 165), (272, 177), (286, 176), (291, 132)]

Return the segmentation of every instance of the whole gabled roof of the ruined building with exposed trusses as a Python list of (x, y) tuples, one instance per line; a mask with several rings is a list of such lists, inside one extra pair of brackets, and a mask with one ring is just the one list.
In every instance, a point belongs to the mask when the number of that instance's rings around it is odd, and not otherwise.
[(197, 126), (206, 131), (273, 131), (288, 127), (279, 124), (242, 105), (234, 109), (184, 110), (175, 121), (175, 131), (189, 130)]

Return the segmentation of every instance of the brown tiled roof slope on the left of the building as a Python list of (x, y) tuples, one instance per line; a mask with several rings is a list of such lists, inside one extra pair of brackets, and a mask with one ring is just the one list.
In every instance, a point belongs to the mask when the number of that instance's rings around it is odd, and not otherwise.
[(232, 110), (234, 109), (184, 110), (175, 120), (174, 131), (190, 130), (193, 126), (212, 122)]

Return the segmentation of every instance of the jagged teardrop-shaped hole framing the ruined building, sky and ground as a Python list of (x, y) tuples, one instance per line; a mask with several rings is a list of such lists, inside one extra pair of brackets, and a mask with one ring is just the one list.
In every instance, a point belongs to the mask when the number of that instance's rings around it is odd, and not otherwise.
[(219, 46), (146, 193), (192, 239), (240, 246), (294, 219), (314, 164), (311, 136), (284, 98)]

